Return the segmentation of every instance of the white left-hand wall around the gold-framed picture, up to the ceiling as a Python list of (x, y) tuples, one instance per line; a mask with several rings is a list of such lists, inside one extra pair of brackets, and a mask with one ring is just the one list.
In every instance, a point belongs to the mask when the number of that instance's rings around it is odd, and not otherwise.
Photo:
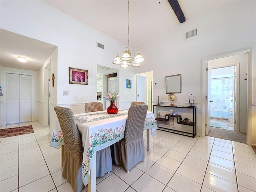
[[(126, 91), (126, 79), (136, 82), (134, 68), (122, 69), (112, 64), (125, 44), (42, 1), (0, 1), (0, 22), (4, 30), (58, 46), (58, 64), (51, 65), (50, 71), (54, 73), (56, 86), (51, 92), (57, 96), (50, 100), (50, 126), (56, 119), (54, 106), (67, 106), (79, 113), (84, 112), (85, 102), (96, 100), (95, 63), (120, 70), (120, 94)], [(104, 44), (105, 49), (98, 48), (97, 42)], [(88, 70), (88, 85), (69, 84), (69, 67)], [(69, 96), (63, 96), (63, 90), (68, 90)], [(132, 93), (124, 94), (120, 107), (122, 102), (132, 99)]]

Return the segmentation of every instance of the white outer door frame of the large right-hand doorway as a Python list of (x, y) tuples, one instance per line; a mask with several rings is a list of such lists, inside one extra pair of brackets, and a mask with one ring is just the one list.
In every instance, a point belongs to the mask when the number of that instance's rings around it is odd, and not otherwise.
[[(214, 59), (225, 58), (240, 54), (248, 54), (248, 62), (247, 62), (247, 71), (248, 71), (248, 84), (247, 84), (247, 95), (252, 95), (252, 48), (246, 50), (240, 50), (236, 52), (230, 52), (227, 54), (222, 54), (218, 56), (213, 56), (211, 58), (203, 58), (202, 59), (202, 136), (205, 136), (206, 132), (206, 104), (208, 100), (205, 99), (206, 96), (206, 72), (205, 66), (206, 62)], [(250, 77), (250, 78), (249, 78)], [(252, 99), (248, 100), (247, 97), (247, 106), (252, 106)], [(252, 145), (252, 108), (247, 108), (247, 127), (246, 127), (246, 144), (249, 146)]]

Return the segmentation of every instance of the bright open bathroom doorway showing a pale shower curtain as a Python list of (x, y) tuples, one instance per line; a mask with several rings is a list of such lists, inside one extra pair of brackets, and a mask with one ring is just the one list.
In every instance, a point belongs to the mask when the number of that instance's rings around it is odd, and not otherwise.
[(236, 130), (236, 66), (211, 69), (210, 126)]

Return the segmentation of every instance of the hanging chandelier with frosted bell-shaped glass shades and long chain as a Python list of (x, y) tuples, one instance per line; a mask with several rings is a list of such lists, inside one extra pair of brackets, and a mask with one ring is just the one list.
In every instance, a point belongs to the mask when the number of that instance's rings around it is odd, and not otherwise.
[[(135, 54), (135, 52), (137, 51), (138, 53)], [(118, 55), (119, 52), (123, 53), (121, 58)], [(130, 51), (130, 0), (128, 0), (128, 47), (126, 47), (126, 50), (124, 52), (118, 51), (117, 56), (112, 63), (120, 65), (120, 67), (126, 68), (130, 66), (131, 62), (133, 67), (140, 67), (140, 63), (143, 61), (144, 58), (141, 56), (138, 49), (134, 49), (132, 52)]]

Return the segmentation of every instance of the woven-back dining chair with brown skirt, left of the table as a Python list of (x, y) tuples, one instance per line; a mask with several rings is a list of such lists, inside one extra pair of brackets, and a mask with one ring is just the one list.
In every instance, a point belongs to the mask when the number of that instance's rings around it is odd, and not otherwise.
[(70, 108), (54, 107), (65, 141), (62, 177), (71, 184), (74, 192), (84, 187), (82, 182), (82, 161), (84, 148), (74, 114)]

